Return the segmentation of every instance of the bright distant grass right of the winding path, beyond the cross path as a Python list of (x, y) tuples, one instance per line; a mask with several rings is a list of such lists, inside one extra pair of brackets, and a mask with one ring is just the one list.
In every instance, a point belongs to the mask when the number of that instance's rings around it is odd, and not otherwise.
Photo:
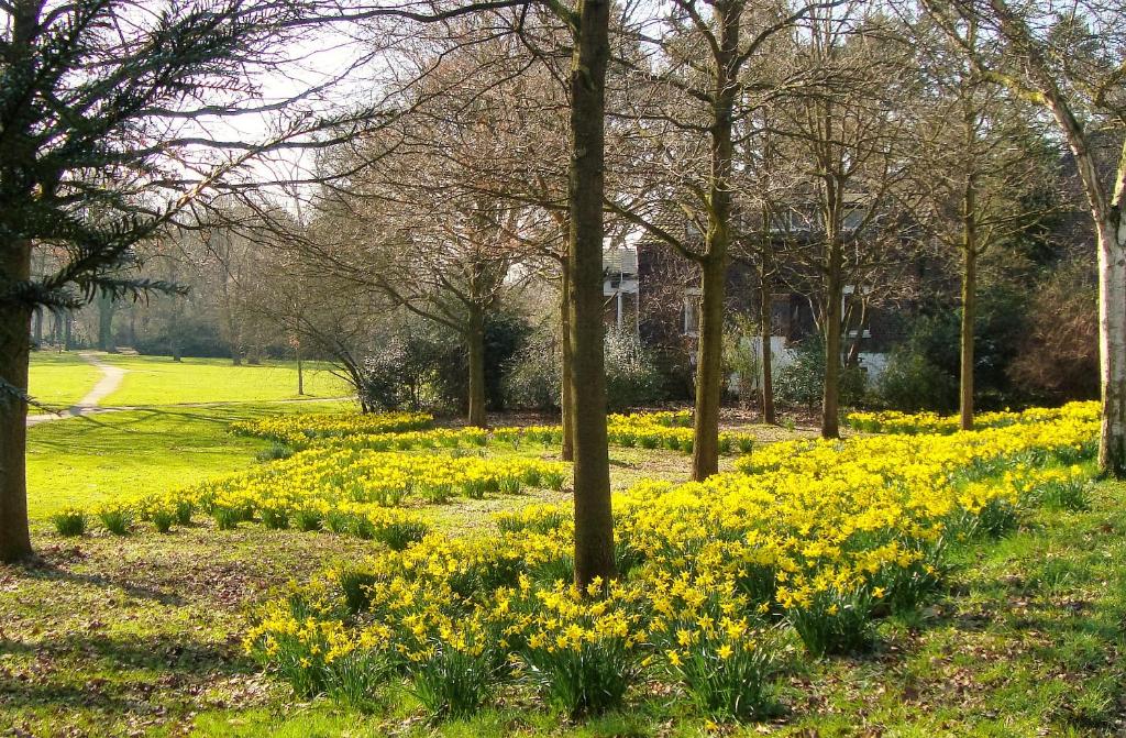
[(305, 363), (305, 394), (297, 394), (295, 362), (234, 366), (230, 359), (167, 356), (105, 355), (102, 361), (128, 370), (120, 388), (102, 404), (160, 406), (189, 402), (270, 402), (306, 398), (338, 398), (350, 388), (323, 362)]

